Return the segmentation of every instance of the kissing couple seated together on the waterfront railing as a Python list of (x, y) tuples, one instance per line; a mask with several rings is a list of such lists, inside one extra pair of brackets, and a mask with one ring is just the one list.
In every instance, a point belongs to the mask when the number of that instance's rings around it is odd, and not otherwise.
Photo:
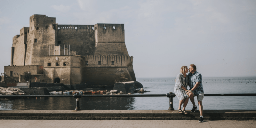
[[(189, 70), (189, 73), (188, 73)], [(188, 75), (186, 74), (188, 73)], [(189, 86), (189, 90), (187, 89)], [(202, 84), (202, 76), (200, 73), (196, 71), (196, 65), (191, 64), (189, 69), (187, 66), (182, 66), (180, 68), (180, 74), (176, 77), (174, 93), (177, 96), (179, 101), (179, 113), (188, 114), (185, 110), (188, 104), (188, 97), (193, 104), (193, 108), (191, 112), (195, 112), (197, 107), (195, 104), (194, 97), (197, 97), (199, 111), (200, 111), (200, 119), (199, 122), (204, 122), (203, 118), (203, 105), (202, 100), (204, 99), (204, 89)], [(184, 104), (183, 104), (184, 103)], [(181, 105), (183, 104), (183, 108), (181, 110)]]

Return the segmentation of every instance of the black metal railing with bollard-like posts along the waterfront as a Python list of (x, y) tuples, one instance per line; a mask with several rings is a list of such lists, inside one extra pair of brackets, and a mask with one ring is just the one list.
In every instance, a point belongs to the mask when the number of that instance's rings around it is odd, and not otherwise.
[[(80, 109), (80, 98), (82, 97), (168, 97), (169, 98), (169, 109), (168, 110), (174, 110), (173, 108), (173, 97), (176, 95), (172, 92), (167, 94), (142, 94), (142, 95), (82, 95), (79, 93), (76, 93), (74, 95), (2, 95), (0, 98), (36, 98), (36, 97), (74, 97), (76, 98), (76, 108), (75, 110), (81, 110)], [(234, 94), (204, 94), (204, 96), (256, 96), (256, 93), (234, 93)]]

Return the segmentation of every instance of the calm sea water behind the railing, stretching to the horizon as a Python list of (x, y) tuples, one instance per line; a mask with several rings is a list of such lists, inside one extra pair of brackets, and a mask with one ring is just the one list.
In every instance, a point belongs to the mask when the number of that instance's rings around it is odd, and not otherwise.
[[(175, 78), (137, 78), (137, 81), (144, 86), (144, 90), (150, 91), (144, 94), (173, 92), (175, 85)], [(203, 77), (203, 88), (205, 94), (256, 93), (255, 82), (256, 77)], [(174, 97), (175, 110), (178, 108), (178, 103), (179, 100)], [(15, 99), (0, 101), (0, 106), (0, 110), (73, 110), (76, 108), (76, 99)], [(186, 109), (190, 110), (192, 107), (189, 101)], [(256, 96), (205, 96), (203, 107), (204, 109), (256, 109)], [(167, 97), (81, 98), (80, 108), (82, 110), (166, 110), (169, 108), (169, 99)]]

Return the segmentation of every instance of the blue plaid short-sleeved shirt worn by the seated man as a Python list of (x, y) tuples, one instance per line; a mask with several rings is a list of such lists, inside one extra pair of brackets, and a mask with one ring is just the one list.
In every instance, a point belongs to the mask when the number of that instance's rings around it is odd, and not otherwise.
[(194, 92), (195, 95), (204, 93), (203, 84), (202, 84), (202, 75), (199, 72), (195, 71), (193, 74), (188, 73), (187, 77), (188, 77), (188, 85), (190, 88), (189, 90), (191, 90), (196, 85), (196, 82), (200, 82), (199, 86), (192, 92)]

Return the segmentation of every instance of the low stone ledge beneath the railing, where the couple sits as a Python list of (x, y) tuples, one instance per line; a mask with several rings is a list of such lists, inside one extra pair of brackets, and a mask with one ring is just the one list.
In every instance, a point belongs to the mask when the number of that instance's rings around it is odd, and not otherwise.
[[(2, 110), (0, 119), (22, 120), (198, 120), (177, 110)], [(205, 120), (256, 120), (256, 110), (204, 110)]]

